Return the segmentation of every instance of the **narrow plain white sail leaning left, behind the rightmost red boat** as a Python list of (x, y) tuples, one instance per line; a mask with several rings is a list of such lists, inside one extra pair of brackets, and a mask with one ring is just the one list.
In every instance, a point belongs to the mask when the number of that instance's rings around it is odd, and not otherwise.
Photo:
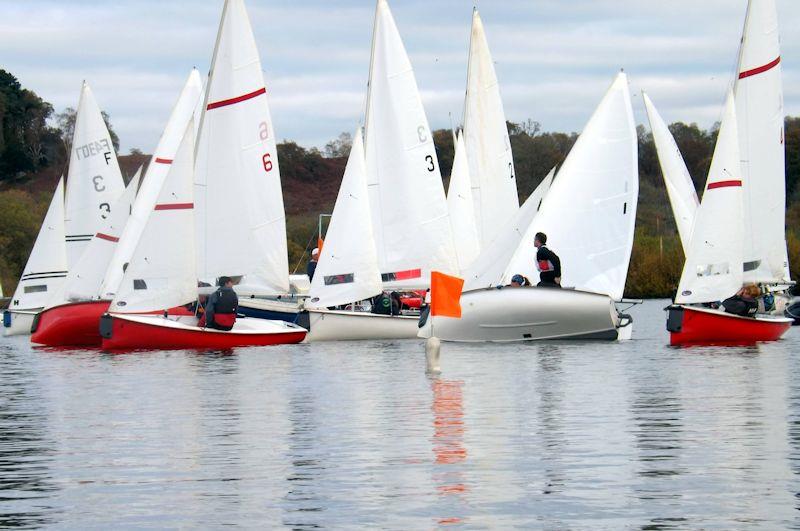
[(689, 252), (692, 225), (700, 201), (697, 199), (697, 191), (694, 189), (692, 177), (689, 175), (686, 163), (675, 143), (675, 138), (647, 94), (642, 92), (642, 97), (645, 109), (647, 109), (650, 129), (653, 131), (653, 141), (656, 144), (664, 185), (667, 188), (672, 214), (675, 216), (675, 224), (678, 226), (678, 235), (681, 238), (685, 254)]

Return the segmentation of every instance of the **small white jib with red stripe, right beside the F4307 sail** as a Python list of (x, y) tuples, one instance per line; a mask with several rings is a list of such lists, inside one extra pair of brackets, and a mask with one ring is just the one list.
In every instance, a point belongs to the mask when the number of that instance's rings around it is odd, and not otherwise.
[[(117, 250), (120, 236), (128, 222), (136, 191), (139, 189), (141, 167), (136, 172), (123, 194), (114, 202), (111, 214), (100, 230), (92, 237), (78, 262), (70, 268), (64, 283), (66, 301), (93, 300), (100, 298), (100, 287)], [(63, 301), (53, 301), (59, 304)]]

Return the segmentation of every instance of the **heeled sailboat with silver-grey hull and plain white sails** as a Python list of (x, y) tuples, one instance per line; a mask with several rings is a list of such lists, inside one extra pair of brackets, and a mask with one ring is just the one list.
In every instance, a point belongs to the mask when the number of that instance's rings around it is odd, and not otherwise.
[[(627, 76), (620, 73), (524, 236), (497, 252), (511, 254), (510, 260), (500, 268), (482, 251), (465, 279), (461, 318), (422, 319), (419, 335), (468, 342), (628, 337), (631, 319), (615, 301), (625, 287), (638, 189), (636, 127)], [(507, 286), (515, 274), (536, 278), (537, 232), (547, 234), (561, 256), (562, 285), (572, 289)], [(513, 243), (513, 232), (504, 240)]]

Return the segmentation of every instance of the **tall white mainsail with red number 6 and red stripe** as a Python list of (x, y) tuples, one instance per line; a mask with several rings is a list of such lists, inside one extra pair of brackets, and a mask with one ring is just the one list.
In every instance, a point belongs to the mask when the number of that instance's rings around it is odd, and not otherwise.
[(289, 291), (278, 153), (258, 49), (242, 0), (226, 0), (206, 87), (195, 198), (200, 278)]

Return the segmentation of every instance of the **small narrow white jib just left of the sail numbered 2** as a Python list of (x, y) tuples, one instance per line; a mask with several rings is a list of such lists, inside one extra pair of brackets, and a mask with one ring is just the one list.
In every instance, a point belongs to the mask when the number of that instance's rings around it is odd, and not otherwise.
[(458, 267), (462, 272), (480, 254), (478, 228), (475, 225), (475, 203), (472, 201), (472, 185), (469, 177), (464, 136), (459, 133), (456, 138), (453, 169), (450, 172), (450, 187), (447, 190), (447, 211), (450, 213)]

